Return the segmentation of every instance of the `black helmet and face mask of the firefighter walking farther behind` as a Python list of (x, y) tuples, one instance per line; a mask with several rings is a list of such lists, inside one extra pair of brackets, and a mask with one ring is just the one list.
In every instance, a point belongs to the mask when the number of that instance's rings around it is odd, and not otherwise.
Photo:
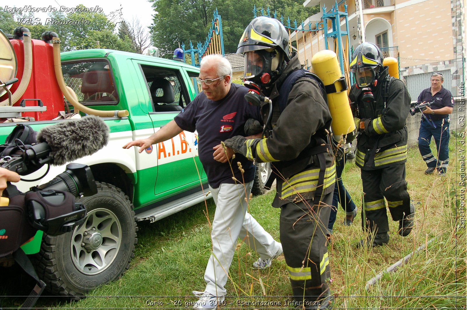
[(354, 50), (350, 71), (355, 75), (358, 87), (368, 87), (379, 78), (383, 69), (381, 50), (373, 43), (363, 42)]

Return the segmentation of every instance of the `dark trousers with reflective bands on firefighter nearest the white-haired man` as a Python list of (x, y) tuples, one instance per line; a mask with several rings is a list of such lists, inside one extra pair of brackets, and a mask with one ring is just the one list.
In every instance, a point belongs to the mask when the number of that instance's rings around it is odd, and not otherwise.
[(325, 237), (332, 200), (333, 192), (324, 195), (319, 206), (310, 199), (281, 207), (281, 243), (298, 304), (321, 301), (325, 308), (332, 299), (326, 282), (330, 272)]

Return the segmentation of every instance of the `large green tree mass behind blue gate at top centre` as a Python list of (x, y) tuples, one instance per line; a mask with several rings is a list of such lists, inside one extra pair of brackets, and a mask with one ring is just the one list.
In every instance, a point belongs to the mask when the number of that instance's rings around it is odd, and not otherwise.
[[(188, 46), (200, 41), (205, 42), (213, 12), (217, 8), (222, 17), (225, 53), (235, 53), (238, 41), (248, 23), (253, 19), (253, 6), (266, 10), (269, 6), (270, 15), (274, 14), (284, 22), (290, 19), (300, 22), (317, 12), (316, 8), (303, 7), (303, 0), (181, 0), (175, 3), (171, 0), (149, 0), (157, 12), (151, 28), (151, 40), (161, 49), (174, 50), (178, 42)], [(266, 14), (266, 11), (265, 11)], [(261, 15), (261, 13), (259, 13)]]

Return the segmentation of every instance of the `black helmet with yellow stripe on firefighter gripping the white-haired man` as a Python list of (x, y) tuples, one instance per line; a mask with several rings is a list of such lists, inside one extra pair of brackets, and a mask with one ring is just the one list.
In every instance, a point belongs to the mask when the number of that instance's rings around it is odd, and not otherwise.
[(268, 84), (280, 75), (283, 62), (290, 60), (289, 34), (275, 18), (256, 17), (243, 32), (237, 53), (245, 57), (245, 80)]

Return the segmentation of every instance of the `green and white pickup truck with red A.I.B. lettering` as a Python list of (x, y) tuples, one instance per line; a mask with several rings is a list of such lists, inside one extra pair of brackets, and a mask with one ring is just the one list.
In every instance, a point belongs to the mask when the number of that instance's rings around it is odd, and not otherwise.
[[(210, 194), (198, 160), (196, 132), (184, 131), (142, 153), (138, 148), (122, 148), (131, 140), (149, 137), (191, 102), (199, 91), (195, 80), (199, 69), (108, 49), (65, 52), (61, 58), (64, 81), (80, 103), (96, 110), (129, 112), (128, 117), (103, 118), (110, 127), (108, 145), (74, 161), (90, 166), (98, 182), (97, 194), (80, 199), (88, 212), (85, 224), (59, 236), (39, 231), (22, 247), (26, 254), (35, 254), (37, 273), (50, 291), (78, 299), (128, 268), (137, 243), (138, 220), (160, 220)], [(37, 131), (57, 122), (28, 125)], [(13, 126), (0, 124), (1, 141)], [(35, 175), (41, 175), (45, 166), (41, 169)], [(21, 181), (18, 188), (25, 192), (64, 170), (65, 166), (52, 166), (40, 181)], [(267, 173), (257, 174), (263, 183)]]

